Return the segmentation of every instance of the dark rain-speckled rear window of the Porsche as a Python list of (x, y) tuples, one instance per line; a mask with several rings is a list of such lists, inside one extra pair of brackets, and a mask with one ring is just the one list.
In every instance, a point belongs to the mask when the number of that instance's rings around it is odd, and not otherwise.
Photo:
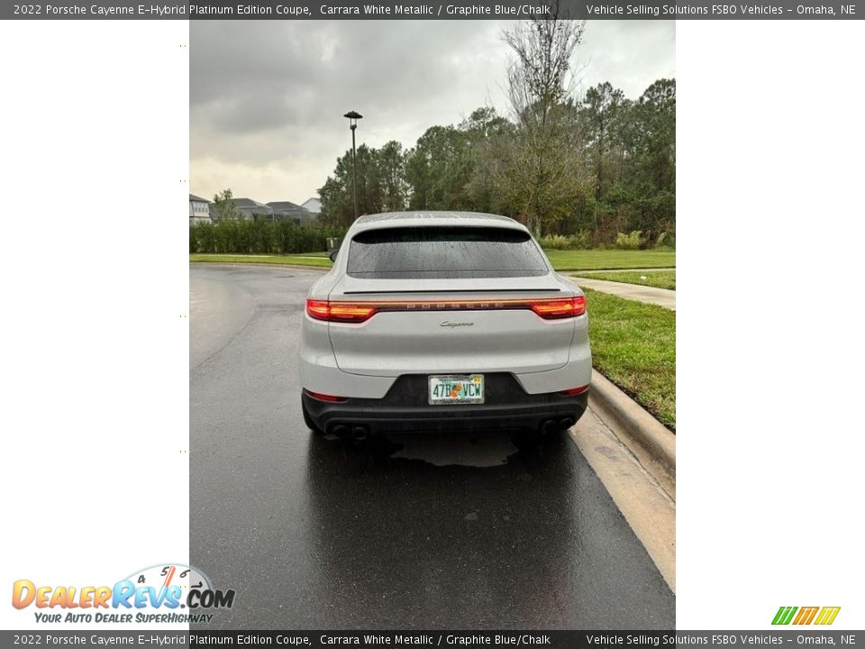
[(507, 278), (547, 272), (529, 233), (507, 228), (368, 230), (349, 246), (348, 273), (359, 278)]

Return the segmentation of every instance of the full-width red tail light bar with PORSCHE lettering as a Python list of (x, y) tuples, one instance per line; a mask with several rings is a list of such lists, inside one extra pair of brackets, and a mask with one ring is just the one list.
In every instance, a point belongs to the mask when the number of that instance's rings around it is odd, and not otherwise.
[(428, 300), (416, 302), (332, 302), (330, 300), (306, 300), (306, 315), (315, 320), (341, 323), (366, 322), (382, 311), (501, 311), (506, 309), (531, 309), (544, 320), (577, 317), (586, 313), (586, 297), (553, 297), (544, 299), (471, 299)]

